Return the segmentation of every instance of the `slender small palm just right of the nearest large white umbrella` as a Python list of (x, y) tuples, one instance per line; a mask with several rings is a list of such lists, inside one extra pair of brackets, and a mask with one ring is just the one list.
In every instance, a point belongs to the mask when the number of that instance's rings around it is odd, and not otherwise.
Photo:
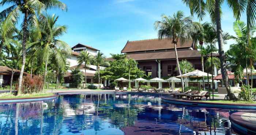
[[(219, 66), (220, 66), (220, 61), (219, 61), (219, 58), (217, 58), (217, 57), (208, 57), (207, 58), (207, 61), (206, 61), (206, 65), (207, 65), (207, 67), (208, 67), (208, 69), (210, 69), (211, 70), (211, 74), (212, 74), (212, 99), (214, 99), (214, 97), (213, 97), (213, 67), (217, 67), (217, 68), (219, 68)], [(209, 80), (208, 80), (208, 84), (209, 84)]]

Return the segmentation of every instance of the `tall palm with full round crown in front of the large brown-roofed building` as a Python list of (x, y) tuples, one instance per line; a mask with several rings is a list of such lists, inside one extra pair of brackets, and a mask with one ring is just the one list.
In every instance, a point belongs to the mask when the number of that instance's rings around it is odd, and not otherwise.
[[(156, 21), (154, 25), (155, 29), (158, 30), (158, 38), (170, 39), (171, 43), (174, 45), (178, 73), (181, 75), (176, 45), (179, 40), (181, 43), (184, 43), (185, 40), (189, 40), (191, 38), (188, 34), (192, 25), (191, 17), (185, 17), (184, 12), (177, 11), (177, 13), (174, 13), (172, 17), (162, 15), (162, 21)], [(184, 92), (184, 83), (182, 78), (181, 84), (182, 92)]]

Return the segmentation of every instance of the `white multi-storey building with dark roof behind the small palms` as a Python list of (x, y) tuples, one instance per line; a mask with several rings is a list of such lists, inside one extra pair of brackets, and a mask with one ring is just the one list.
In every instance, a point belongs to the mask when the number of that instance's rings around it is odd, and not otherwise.
[[(70, 69), (68, 70), (68, 73), (65, 75), (65, 83), (68, 86), (69, 82), (72, 81), (72, 77), (71, 77), (71, 72), (72, 69), (75, 68), (79, 68), (81, 72), (84, 73), (84, 64), (80, 65), (78, 67), (78, 55), (80, 54), (80, 52), (82, 51), (87, 51), (88, 53), (90, 53), (93, 57), (95, 57), (98, 53), (98, 49), (95, 49), (91, 46), (87, 46), (87, 45), (82, 45), (81, 43), (78, 43), (77, 45), (75, 45), (74, 47), (71, 48), (72, 49), (72, 55), (70, 58), (67, 59), (67, 61), (69, 62), (69, 66)], [(105, 69), (105, 67), (100, 66), (99, 67), (100, 70)], [(93, 77), (94, 74), (97, 72), (97, 66), (95, 65), (89, 65), (88, 69), (86, 69), (86, 77), (87, 77), (87, 83), (93, 83)]]

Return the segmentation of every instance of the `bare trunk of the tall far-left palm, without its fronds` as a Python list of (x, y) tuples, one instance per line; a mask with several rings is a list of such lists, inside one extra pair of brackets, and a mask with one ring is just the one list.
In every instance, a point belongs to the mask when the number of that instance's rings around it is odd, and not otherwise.
[(22, 41), (22, 66), (20, 69), (19, 74), (19, 85), (18, 85), (18, 96), (21, 94), (21, 88), (22, 88), (22, 78), (23, 78), (23, 72), (26, 64), (26, 42), (27, 42), (27, 25), (28, 25), (28, 18), (29, 13), (28, 11), (25, 11), (24, 13), (24, 21), (23, 21), (23, 41)]

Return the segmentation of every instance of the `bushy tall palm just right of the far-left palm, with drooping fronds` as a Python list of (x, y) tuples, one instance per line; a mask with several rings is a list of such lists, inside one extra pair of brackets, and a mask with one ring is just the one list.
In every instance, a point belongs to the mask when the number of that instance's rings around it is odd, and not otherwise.
[[(37, 51), (37, 56), (45, 62), (45, 72), (44, 72), (44, 87), (47, 77), (47, 67), (49, 56), (54, 52), (54, 50), (61, 49), (62, 51), (67, 51), (71, 53), (71, 49), (67, 43), (58, 38), (67, 32), (67, 26), (59, 26), (57, 21), (59, 16), (53, 15), (40, 15), (39, 16), (39, 28), (40, 28), (40, 43), (35, 44), (33, 47), (39, 48)], [(61, 57), (63, 53), (58, 53), (55, 51), (56, 57)]]

